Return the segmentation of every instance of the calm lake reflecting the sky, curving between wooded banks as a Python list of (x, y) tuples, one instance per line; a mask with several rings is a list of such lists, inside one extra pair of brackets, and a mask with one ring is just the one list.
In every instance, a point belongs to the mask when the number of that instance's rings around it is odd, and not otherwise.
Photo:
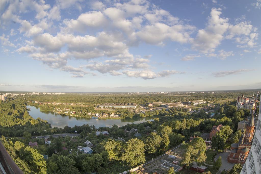
[(52, 127), (64, 128), (64, 126), (74, 127), (75, 125), (81, 126), (83, 124), (94, 125), (96, 128), (99, 127), (112, 127), (116, 124), (119, 127), (132, 124), (132, 123), (143, 123), (146, 121), (152, 121), (157, 117), (142, 117), (142, 118), (124, 118), (124, 119), (92, 119), (84, 117), (71, 117), (71, 116), (62, 116), (51, 111), (40, 111), (40, 108), (35, 106), (27, 106), (29, 114), (37, 119), (38, 117), (48, 121)]

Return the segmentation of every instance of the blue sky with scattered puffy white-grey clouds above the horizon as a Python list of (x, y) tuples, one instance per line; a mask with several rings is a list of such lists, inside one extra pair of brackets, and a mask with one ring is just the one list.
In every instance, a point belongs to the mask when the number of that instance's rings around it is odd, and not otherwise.
[(0, 0), (0, 90), (261, 86), (261, 0)]

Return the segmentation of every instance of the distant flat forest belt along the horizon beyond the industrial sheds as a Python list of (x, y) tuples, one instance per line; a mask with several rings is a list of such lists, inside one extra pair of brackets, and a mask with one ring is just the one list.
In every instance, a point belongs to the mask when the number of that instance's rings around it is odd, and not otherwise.
[(138, 103), (145, 104), (154, 101), (165, 102), (178, 102), (189, 100), (205, 100), (205, 101), (221, 101), (233, 99), (244, 93), (246, 96), (256, 94), (254, 91), (224, 91), (224, 92), (169, 92), (169, 93), (65, 93), (61, 95), (29, 95), (28, 101), (39, 100), (44, 101), (57, 101), (65, 103), (84, 103), (84, 104), (102, 104), (102, 103)]

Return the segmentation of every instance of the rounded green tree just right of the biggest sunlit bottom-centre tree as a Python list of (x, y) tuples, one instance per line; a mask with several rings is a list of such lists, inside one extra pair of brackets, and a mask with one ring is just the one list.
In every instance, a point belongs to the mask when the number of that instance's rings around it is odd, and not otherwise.
[(145, 149), (148, 153), (155, 153), (157, 154), (157, 149), (161, 145), (162, 138), (161, 136), (157, 135), (156, 133), (150, 133), (150, 135), (145, 139)]

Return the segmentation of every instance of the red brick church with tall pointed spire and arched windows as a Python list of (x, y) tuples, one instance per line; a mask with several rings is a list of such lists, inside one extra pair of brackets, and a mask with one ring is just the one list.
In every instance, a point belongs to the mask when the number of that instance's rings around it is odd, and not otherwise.
[(246, 124), (245, 130), (243, 128), (242, 135), (239, 138), (238, 143), (233, 143), (231, 145), (229, 154), (228, 154), (228, 162), (229, 163), (241, 163), (244, 164), (248, 153), (250, 151), (253, 137), (254, 137), (254, 106), (252, 107), (252, 115)]

